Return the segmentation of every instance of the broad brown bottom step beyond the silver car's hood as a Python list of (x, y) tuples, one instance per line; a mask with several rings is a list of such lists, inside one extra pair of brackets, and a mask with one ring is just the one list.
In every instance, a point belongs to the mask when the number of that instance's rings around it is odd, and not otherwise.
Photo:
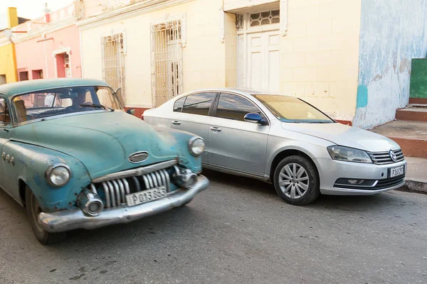
[(427, 122), (397, 120), (371, 131), (396, 141), (405, 156), (427, 158)]

